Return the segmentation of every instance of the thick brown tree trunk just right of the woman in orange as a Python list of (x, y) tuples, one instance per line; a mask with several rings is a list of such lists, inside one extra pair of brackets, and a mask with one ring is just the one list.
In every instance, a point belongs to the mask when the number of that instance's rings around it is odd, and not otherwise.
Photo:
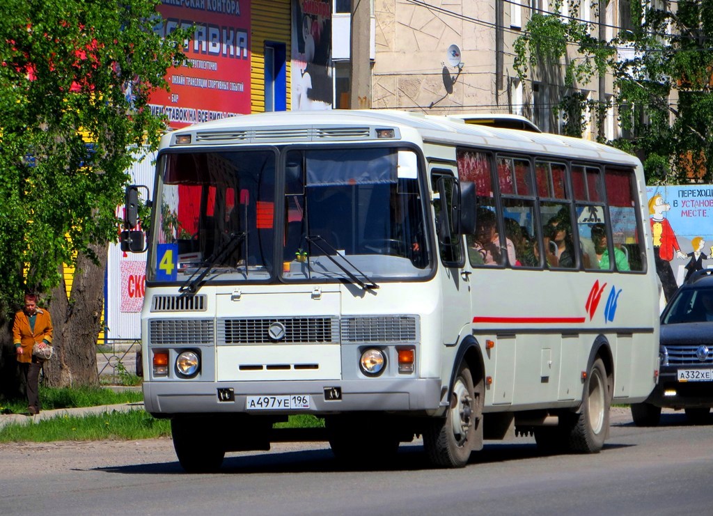
[(69, 299), (64, 281), (52, 292), (54, 356), (45, 363), (45, 385), (98, 386), (96, 342), (102, 327), (108, 244), (92, 246), (98, 264), (79, 254)]

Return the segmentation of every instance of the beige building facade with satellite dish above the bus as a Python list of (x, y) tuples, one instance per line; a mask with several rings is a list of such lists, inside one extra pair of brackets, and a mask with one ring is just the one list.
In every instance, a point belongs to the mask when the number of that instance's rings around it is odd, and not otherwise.
[[(419, 110), (431, 114), (512, 113), (524, 115), (545, 131), (565, 132), (575, 113), (557, 109), (573, 92), (584, 100), (607, 102), (610, 75), (596, 73), (586, 83), (565, 88), (565, 66), (580, 59), (575, 46), (556, 62), (540, 60), (521, 80), (513, 67), (515, 41), (533, 13), (590, 24), (590, 33), (610, 40), (620, 26), (620, 1), (565, 0), (554, 6), (543, 0), (374, 0), (375, 58), (372, 107)], [(627, 7), (628, 9), (628, 7)], [(460, 63), (449, 61), (449, 49), (460, 50)], [(626, 49), (623, 49), (626, 51)], [(583, 138), (617, 138), (612, 108), (584, 109)]]

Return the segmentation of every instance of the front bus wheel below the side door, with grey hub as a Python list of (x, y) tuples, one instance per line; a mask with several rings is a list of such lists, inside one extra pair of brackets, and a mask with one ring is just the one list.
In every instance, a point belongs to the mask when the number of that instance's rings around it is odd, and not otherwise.
[[(481, 381), (482, 383), (482, 381)], [(437, 468), (463, 468), (476, 445), (476, 426), (482, 424), (483, 393), (478, 395), (468, 366), (461, 366), (453, 382), (451, 406), (445, 418), (426, 422), (424, 449), (429, 463)]]

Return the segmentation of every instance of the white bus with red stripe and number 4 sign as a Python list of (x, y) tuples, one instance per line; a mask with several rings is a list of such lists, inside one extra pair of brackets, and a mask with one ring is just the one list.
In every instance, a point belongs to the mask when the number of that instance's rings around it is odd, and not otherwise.
[[(143, 247), (128, 189), (125, 249)], [(595, 453), (658, 371), (639, 160), (391, 111), (265, 113), (166, 135), (142, 314), (144, 401), (183, 468), (289, 439), (369, 465), (422, 436)], [(324, 418), (309, 435), (275, 428)], [(307, 430), (304, 430), (307, 432)]]

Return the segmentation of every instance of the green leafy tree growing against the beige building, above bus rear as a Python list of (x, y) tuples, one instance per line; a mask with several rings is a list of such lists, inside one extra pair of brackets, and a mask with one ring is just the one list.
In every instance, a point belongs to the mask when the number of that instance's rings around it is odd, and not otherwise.
[[(713, 0), (620, 0), (618, 5), (622, 26), (609, 41), (596, 23), (578, 20), (578, 2), (570, 7), (570, 19), (533, 15), (515, 44), (518, 75), (566, 61), (570, 93), (555, 109), (565, 115), (565, 131), (580, 135), (577, 119), (585, 108), (601, 120), (607, 106), (578, 98), (577, 84), (612, 73), (613, 103), (625, 138), (608, 143), (638, 155), (650, 183), (692, 177), (713, 182)], [(606, 6), (602, 0), (597, 11)]]

